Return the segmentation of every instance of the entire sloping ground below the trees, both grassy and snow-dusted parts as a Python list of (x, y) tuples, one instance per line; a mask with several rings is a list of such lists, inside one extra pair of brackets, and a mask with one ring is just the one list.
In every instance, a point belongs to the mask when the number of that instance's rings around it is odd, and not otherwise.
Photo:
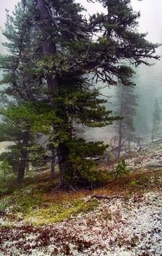
[(0, 255), (161, 256), (161, 173), (143, 168), (77, 192), (54, 189), (48, 172), (28, 173), (1, 195)]

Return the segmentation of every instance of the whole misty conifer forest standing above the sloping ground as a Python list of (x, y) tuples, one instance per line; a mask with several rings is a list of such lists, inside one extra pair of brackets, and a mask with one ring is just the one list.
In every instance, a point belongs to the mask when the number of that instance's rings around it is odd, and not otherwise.
[(0, 132), (10, 145), (0, 158), (18, 184), (49, 163), (61, 185), (87, 184), (101, 176), (93, 159), (161, 139), (160, 44), (139, 33), (131, 1), (96, 3), (89, 16), (74, 1), (6, 10)]

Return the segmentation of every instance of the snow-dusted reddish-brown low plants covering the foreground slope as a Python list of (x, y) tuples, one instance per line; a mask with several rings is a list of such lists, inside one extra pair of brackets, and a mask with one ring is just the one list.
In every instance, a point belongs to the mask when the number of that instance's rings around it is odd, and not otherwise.
[(55, 225), (2, 227), (0, 255), (161, 256), (161, 210), (161, 192), (102, 199), (96, 210)]

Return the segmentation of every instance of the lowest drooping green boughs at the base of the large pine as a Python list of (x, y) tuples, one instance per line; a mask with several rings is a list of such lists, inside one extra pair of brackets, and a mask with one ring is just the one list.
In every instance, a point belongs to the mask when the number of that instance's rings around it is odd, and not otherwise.
[[(99, 170), (97, 159), (103, 156), (108, 145), (103, 142), (85, 142), (85, 140), (71, 140), (69, 142), (69, 162), (72, 163), (66, 172), (66, 181), (73, 184), (90, 185), (99, 181), (107, 181), (107, 172)], [(96, 161), (94, 161), (96, 159)]]

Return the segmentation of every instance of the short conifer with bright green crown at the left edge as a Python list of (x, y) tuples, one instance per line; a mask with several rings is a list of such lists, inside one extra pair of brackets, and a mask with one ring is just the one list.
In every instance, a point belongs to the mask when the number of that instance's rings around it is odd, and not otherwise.
[(36, 115), (38, 113), (34, 115), (31, 106), (29, 110), (27, 105), (13, 102), (1, 109), (0, 140), (8, 140), (11, 145), (7, 147), (7, 152), (0, 155), (0, 159), (7, 160), (12, 166), (17, 173), (18, 184), (23, 181), (29, 162), (31, 165), (41, 165), (41, 158), (45, 154), (45, 149), (36, 141), (39, 138)]

